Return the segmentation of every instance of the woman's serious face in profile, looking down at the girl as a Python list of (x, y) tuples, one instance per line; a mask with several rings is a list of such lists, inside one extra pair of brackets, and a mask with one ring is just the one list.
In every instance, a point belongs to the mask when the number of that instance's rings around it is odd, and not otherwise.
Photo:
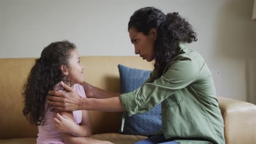
[(137, 32), (133, 27), (129, 29), (129, 36), (135, 47), (135, 54), (148, 62), (154, 59), (156, 32), (156, 29), (152, 28), (149, 35), (144, 35), (142, 32)]

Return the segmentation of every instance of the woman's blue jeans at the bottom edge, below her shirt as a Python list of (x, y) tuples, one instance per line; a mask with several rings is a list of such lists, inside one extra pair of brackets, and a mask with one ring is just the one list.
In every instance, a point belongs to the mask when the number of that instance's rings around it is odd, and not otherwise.
[(154, 135), (148, 137), (148, 139), (141, 140), (136, 142), (135, 144), (178, 144), (176, 141), (168, 141), (165, 139), (164, 135)]

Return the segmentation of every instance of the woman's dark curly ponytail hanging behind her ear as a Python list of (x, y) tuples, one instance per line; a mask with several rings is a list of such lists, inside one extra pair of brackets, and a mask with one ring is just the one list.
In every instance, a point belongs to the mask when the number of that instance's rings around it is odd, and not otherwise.
[(179, 44), (197, 41), (196, 33), (189, 22), (178, 13), (168, 13), (166, 19), (158, 27), (155, 42), (155, 69), (159, 70), (159, 77), (167, 64), (178, 55)]

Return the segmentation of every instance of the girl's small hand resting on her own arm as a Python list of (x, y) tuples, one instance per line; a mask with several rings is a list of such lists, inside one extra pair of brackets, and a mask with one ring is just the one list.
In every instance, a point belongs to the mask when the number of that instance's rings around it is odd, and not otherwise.
[(59, 113), (56, 113), (54, 118), (54, 125), (58, 131), (69, 134), (72, 134), (72, 128), (77, 126), (77, 124), (75, 124), (71, 118), (65, 115), (61, 116)]

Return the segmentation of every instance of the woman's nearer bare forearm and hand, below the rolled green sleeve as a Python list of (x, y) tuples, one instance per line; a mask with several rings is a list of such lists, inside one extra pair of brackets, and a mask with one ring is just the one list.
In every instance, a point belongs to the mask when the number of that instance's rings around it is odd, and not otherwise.
[[(120, 94), (115, 94), (115, 97), (106, 99), (95, 99), (95, 98), (83, 98), (78, 93), (74, 92), (73, 89), (67, 86), (65, 83), (61, 83), (62, 87), (66, 89), (66, 92), (50, 91), (51, 95), (47, 98), (48, 103), (53, 105), (52, 108), (60, 111), (76, 111), (76, 110), (97, 110), (97, 111), (108, 111), (117, 112), (124, 111), (123, 105), (121, 104)], [(96, 88), (96, 87), (95, 87)], [(86, 90), (85, 90), (86, 91)], [(97, 93), (103, 92), (103, 90), (96, 89)], [(109, 96), (109, 93), (103, 92), (103, 95)], [(87, 94), (87, 93), (86, 93)]]

